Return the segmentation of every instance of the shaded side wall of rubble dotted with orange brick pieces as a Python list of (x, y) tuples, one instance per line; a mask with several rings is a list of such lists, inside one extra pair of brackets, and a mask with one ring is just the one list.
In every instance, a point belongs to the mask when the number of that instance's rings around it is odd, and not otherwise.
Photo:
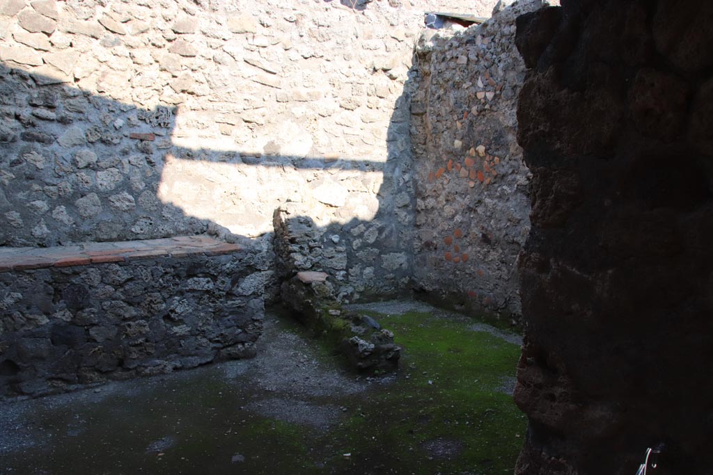
[(520, 314), (515, 261), (530, 229), (530, 201), (515, 140), (525, 76), (515, 19), (543, 3), (498, 6), (481, 26), (419, 40), (414, 281), (449, 306)]

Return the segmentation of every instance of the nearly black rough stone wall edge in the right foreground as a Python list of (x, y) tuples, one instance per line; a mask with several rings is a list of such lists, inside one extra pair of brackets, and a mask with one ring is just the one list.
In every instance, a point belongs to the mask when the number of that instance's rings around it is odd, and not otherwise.
[(713, 2), (564, 1), (518, 19), (529, 429), (517, 474), (710, 474)]

